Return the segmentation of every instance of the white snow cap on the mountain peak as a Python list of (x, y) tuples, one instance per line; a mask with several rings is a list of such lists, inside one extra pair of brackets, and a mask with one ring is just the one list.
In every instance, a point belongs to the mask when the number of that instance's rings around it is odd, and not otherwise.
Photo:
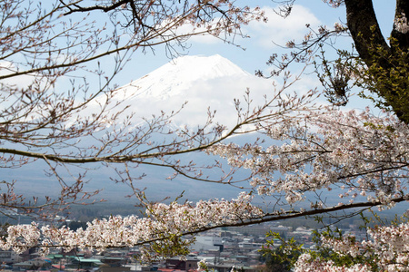
[(271, 81), (245, 72), (218, 54), (183, 56), (119, 88), (115, 100), (130, 106), (135, 124), (161, 111), (177, 111), (184, 102), (187, 105), (174, 118), (176, 125), (204, 123), (208, 108), (217, 112), (216, 121), (233, 124), (234, 98), (243, 100), (247, 88), (254, 101), (263, 102), (263, 94), (273, 87)]

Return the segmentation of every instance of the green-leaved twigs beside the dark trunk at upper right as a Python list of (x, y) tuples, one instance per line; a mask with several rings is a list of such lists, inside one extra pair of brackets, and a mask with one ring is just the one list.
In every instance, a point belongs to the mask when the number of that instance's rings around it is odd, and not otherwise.
[(320, 62), (315, 61), (314, 65), (327, 100), (343, 106), (348, 102), (348, 92), (358, 87), (360, 97), (409, 123), (409, 53), (394, 38), (389, 42), (390, 48), (376, 44), (374, 39), (367, 44), (370, 62), (354, 50), (337, 50), (338, 58), (328, 60), (322, 45), (320, 55), (316, 55)]

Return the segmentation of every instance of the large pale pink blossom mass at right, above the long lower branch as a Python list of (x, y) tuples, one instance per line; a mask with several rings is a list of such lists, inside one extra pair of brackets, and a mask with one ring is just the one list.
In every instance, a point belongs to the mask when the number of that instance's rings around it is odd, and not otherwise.
[(366, 198), (384, 207), (407, 195), (409, 128), (393, 116), (327, 107), (264, 128), (277, 144), (211, 148), (230, 165), (252, 170), (260, 195), (284, 193), (291, 204), (307, 191), (338, 189), (346, 203)]

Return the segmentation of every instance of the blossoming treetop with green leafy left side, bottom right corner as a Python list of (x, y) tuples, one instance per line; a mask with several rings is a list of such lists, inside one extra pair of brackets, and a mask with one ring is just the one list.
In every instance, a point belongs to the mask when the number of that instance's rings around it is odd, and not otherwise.
[[(293, 267), (294, 271), (407, 271), (407, 215), (392, 221), (373, 215), (374, 221), (360, 215), (366, 230), (363, 240), (327, 226), (314, 230), (314, 249), (306, 249), (294, 238), (286, 240), (270, 232), (267, 236), (282, 244), (276, 248), (273, 240), (267, 240), (261, 251), (283, 271)], [(370, 223), (377, 225), (370, 227)]]

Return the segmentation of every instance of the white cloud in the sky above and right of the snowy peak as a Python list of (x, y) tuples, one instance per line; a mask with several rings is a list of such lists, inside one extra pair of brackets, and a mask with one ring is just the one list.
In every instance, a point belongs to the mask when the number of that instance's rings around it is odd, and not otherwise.
[[(275, 44), (284, 45), (290, 40), (300, 41), (309, 31), (305, 24), (314, 29), (320, 25), (320, 20), (306, 7), (294, 5), (291, 15), (286, 18), (277, 15), (272, 7), (263, 7), (268, 22), (252, 22), (246, 26), (245, 32), (252, 40), (264, 48), (271, 49)], [(274, 43), (273, 43), (274, 42)]]

